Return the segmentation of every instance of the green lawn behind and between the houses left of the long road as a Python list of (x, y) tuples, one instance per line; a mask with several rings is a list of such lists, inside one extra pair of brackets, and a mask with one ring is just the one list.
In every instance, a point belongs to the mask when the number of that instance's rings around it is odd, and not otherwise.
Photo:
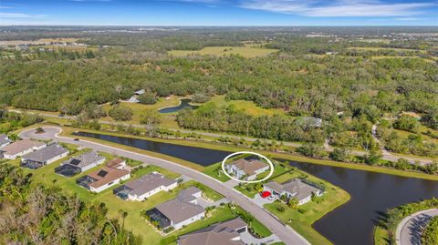
[[(86, 151), (88, 149), (83, 149), (75, 153), (75, 155), (81, 154), (82, 152)], [(105, 156), (106, 158), (114, 158), (114, 156), (107, 154), (107, 153), (100, 153), (101, 155)], [(71, 156), (68, 156), (68, 158)], [(94, 171), (96, 169), (101, 168), (101, 166), (97, 168), (92, 168), (89, 171), (85, 173), (81, 173), (78, 176), (75, 176), (73, 178), (66, 178), (60, 175), (57, 175), (54, 171), (54, 168), (57, 168), (59, 163), (67, 158), (63, 158), (58, 160), (57, 162), (54, 162), (48, 166), (45, 166), (43, 168), (38, 169), (29, 169), (29, 168), (22, 168), (25, 173), (31, 173), (33, 183), (41, 183), (47, 186), (57, 186), (62, 191), (67, 193), (68, 195), (77, 195), (78, 198), (83, 199), (85, 201), (90, 202), (103, 202), (105, 203), (106, 207), (108, 208), (108, 215), (110, 218), (118, 218), (120, 219), (119, 210), (122, 209), (126, 212), (128, 212), (128, 216), (125, 219), (125, 228), (128, 230), (132, 230), (132, 232), (136, 235), (139, 235), (142, 240), (144, 241), (144, 244), (160, 244), (162, 240), (162, 236), (153, 230), (151, 225), (141, 219), (140, 211), (142, 209), (152, 209), (156, 205), (176, 197), (177, 193), (181, 189), (186, 189), (191, 186), (195, 186), (199, 189), (203, 190), (203, 195), (205, 195), (209, 199), (218, 200), (222, 199), (223, 196), (216, 193), (213, 189), (209, 189), (206, 186), (203, 186), (200, 183), (196, 183), (193, 180), (190, 180), (188, 182), (185, 182), (181, 184), (177, 189), (172, 189), (169, 192), (159, 192), (155, 195), (153, 195), (151, 198), (145, 200), (145, 201), (129, 201), (129, 200), (122, 200), (117, 198), (113, 195), (112, 189), (117, 188), (120, 186), (116, 185), (110, 189), (106, 189), (100, 193), (92, 193), (89, 192), (87, 189), (81, 188), (76, 184), (76, 179), (78, 179), (81, 176), (84, 176), (88, 174), (91, 171)], [(19, 159), (11, 160), (9, 161), (11, 164), (19, 166)], [(178, 178), (180, 175), (177, 173), (174, 173), (172, 171), (169, 171), (167, 169), (159, 168), (157, 166), (149, 165), (144, 168), (139, 168), (136, 170), (133, 174), (131, 179), (137, 179), (140, 178), (142, 175), (151, 173), (152, 171), (158, 171), (161, 172), (163, 175), (169, 177), (169, 178)], [(130, 180), (131, 180), (130, 179)], [(129, 181), (129, 180), (128, 180)], [(204, 219), (203, 221), (197, 222), (193, 225), (189, 225), (186, 230), (197, 230), (199, 227), (205, 227), (211, 223), (216, 222), (217, 220), (223, 220), (223, 219), (231, 219), (235, 216), (233, 216), (233, 213), (226, 213), (226, 210), (223, 211), (214, 211), (212, 219)], [(183, 232), (183, 231), (178, 231)]]

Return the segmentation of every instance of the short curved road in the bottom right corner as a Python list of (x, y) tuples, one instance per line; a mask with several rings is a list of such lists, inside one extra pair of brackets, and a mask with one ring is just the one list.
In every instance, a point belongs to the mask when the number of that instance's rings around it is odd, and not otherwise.
[(438, 209), (422, 210), (401, 220), (395, 232), (397, 245), (421, 245), (422, 230), (434, 216), (438, 216)]

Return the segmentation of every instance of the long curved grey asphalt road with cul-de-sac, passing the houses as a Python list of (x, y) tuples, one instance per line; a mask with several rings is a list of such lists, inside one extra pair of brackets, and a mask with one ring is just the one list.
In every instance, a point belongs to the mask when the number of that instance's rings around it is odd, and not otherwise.
[(235, 202), (237, 205), (251, 213), (255, 217), (255, 219), (258, 219), (260, 222), (262, 222), (269, 230), (275, 233), (276, 236), (280, 240), (283, 240), (287, 245), (310, 244), (308, 240), (299, 235), (297, 231), (283, 225), (278, 219), (268, 213), (266, 209), (258, 207), (251, 199), (247, 198), (245, 195), (241, 194), (235, 189), (229, 189), (225, 187), (224, 183), (220, 182), (219, 180), (213, 179), (201, 172), (193, 170), (192, 168), (187, 168), (172, 161), (164, 160), (161, 158), (153, 158), (134, 151), (114, 148), (88, 140), (81, 139), (79, 141), (74, 141), (73, 138), (60, 137), (57, 134), (61, 132), (61, 128), (44, 127), (44, 130), (45, 133), (36, 134), (35, 129), (27, 129), (21, 132), (19, 136), (21, 138), (52, 139), (59, 142), (79, 145), (85, 148), (93, 148), (102, 152), (116, 154), (125, 158), (132, 158), (135, 160), (140, 160), (142, 162), (147, 162), (153, 165), (157, 165), (161, 168), (166, 168), (173, 172), (180, 173), (194, 179), (195, 181), (203, 183), (207, 187), (214, 189), (218, 193), (222, 194), (225, 198)]

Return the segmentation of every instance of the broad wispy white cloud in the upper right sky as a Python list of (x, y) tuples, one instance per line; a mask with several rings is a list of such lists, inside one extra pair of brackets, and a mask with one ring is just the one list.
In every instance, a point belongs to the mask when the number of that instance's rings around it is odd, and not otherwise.
[(250, 0), (241, 6), (249, 9), (313, 17), (344, 16), (410, 16), (434, 3), (383, 3), (378, 0), (336, 0), (327, 4), (322, 0)]

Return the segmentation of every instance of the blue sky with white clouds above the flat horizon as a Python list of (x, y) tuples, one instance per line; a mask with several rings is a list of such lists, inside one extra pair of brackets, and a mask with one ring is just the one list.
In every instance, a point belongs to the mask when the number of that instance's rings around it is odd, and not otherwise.
[(0, 25), (438, 26), (438, 0), (0, 0)]

